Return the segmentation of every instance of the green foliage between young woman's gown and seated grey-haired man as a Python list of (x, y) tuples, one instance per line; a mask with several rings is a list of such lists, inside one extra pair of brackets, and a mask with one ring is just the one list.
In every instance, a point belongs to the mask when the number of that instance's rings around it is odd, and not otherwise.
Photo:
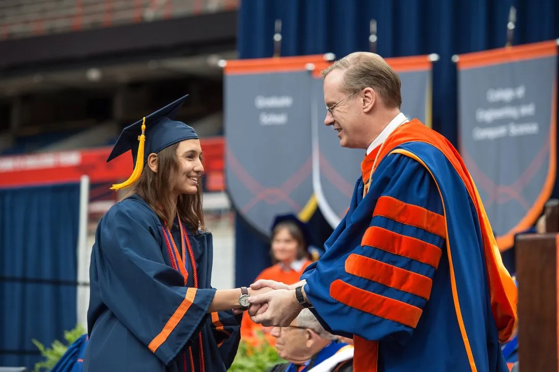
[(273, 365), (285, 363), (278, 355), (276, 348), (271, 346), (263, 335), (259, 335), (260, 342), (257, 346), (250, 345), (241, 340), (239, 350), (233, 364), (229, 368), (231, 372), (266, 372)]

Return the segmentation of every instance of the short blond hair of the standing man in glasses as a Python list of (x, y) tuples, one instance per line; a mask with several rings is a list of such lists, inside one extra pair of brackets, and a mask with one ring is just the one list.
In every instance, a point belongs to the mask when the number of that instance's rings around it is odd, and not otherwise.
[(348, 94), (372, 88), (386, 107), (400, 109), (400, 77), (380, 55), (364, 51), (348, 54), (324, 69), (323, 78), (334, 69), (344, 70), (342, 88)]

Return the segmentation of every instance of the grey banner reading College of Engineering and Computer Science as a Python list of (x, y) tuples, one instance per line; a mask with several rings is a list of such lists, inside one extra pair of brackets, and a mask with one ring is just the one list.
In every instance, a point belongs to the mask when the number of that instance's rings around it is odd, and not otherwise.
[(504, 251), (555, 183), (557, 45), (459, 55), (457, 67), (459, 150)]

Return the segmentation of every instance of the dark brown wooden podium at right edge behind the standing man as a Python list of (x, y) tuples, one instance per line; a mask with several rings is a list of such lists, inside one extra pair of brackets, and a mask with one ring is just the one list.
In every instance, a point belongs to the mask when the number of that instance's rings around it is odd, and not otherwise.
[(519, 370), (559, 370), (559, 200), (545, 207), (546, 232), (515, 241), (518, 280)]

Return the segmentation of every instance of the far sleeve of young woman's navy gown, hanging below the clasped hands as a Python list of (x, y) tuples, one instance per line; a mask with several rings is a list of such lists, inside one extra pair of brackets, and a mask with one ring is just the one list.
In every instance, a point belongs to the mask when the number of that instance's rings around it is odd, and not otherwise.
[(240, 323), (243, 314), (234, 315), (232, 311), (211, 313), (212, 332), (225, 367), (229, 369), (235, 359), (240, 342)]

